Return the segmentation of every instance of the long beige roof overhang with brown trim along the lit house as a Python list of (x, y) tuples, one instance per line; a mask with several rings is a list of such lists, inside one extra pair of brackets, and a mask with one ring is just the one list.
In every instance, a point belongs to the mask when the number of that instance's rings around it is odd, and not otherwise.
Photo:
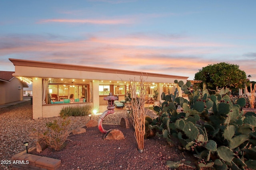
[(168, 74), (156, 74), (71, 64), (48, 63), (21, 59), (9, 60), (15, 66), (15, 73), (13, 74), (13, 76), (17, 77), (66, 78), (100, 81), (112, 80), (130, 82), (130, 80), (134, 79), (136, 81), (139, 81), (140, 76), (143, 76), (145, 82), (155, 83), (173, 83), (174, 80), (183, 80), (185, 82), (188, 79), (188, 77), (186, 76), (174, 76)]

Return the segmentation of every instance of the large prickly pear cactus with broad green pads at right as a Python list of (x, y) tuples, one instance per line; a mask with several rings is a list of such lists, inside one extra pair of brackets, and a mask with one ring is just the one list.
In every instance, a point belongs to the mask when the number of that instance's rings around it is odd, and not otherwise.
[[(177, 82), (176, 82), (177, 83)], [(188, 100), (171, 99), (162, 95), (165, 102), (155, 106), (160, 116), (149, 125), (158, 135), (172, 144), (171, 136), (180, 142), (180, 149), (194, 153), (198, 168), (215, 169), (254, 168), (256, 164), (256, 114), (241, 112), (244, 98), (232, 104), (229, 89), (210, 95), (202, 90), (189, 92), (190, 83), (178, 83), (188, 94)], [(169, 164), (170, 162), (167, 162)]]

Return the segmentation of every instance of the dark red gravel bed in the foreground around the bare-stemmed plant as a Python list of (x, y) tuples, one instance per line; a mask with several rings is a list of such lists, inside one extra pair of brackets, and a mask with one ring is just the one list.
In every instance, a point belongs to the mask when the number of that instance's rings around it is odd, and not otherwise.
[[(61, 160), (59, 170), (168, 170), (167, 160), (185, 163), (192, 158), (188, 153), (180, 152), (177, 147), (166, 145), (166, 141), (157, 136), (144, 140), (144, 152), (137, 150), (134, 129), (122, 129), (120, 125), (104, 125), (106, 129), (120, 129), (124, 140), (102, 140), (98, 127), (86, 128), (86, 133), (72, 135), (66, 147), (60, 151), (46, 149), (40, 154)], [(177, 170), (193, 170), (181, 166)]]

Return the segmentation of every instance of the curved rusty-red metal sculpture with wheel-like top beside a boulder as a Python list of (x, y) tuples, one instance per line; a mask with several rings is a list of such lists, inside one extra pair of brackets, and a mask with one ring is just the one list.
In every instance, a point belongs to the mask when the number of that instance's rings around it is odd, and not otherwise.
[(106, 117), (108, 114), (113, 114), (115, 112), (115, 110), (114, 110), (114, 108), (115, 108), (114, 101), (118, 100), (118, 97), (112, 96), (112, 93), (110, 93), (109, 96), (104, 97), (104, 100), (108, 100), (108, 107), (107, 107), (107, 110), (104, 111), (102, 113), (102, 115), (100, 115), (100, 117), (99, 117), (98, 128), (99, 128), (101, 133), (106, 134), (111, 129), (109, 129), (108, 131), (103, 129), (102, 121), (103, 121), (104, 117)]

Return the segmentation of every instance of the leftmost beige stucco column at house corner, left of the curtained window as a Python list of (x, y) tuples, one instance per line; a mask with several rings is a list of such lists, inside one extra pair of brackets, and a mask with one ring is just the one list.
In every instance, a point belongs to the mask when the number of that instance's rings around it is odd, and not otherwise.
[(33, 77), (33, 119), (43, 117), (42, 113), (42, 78)]

